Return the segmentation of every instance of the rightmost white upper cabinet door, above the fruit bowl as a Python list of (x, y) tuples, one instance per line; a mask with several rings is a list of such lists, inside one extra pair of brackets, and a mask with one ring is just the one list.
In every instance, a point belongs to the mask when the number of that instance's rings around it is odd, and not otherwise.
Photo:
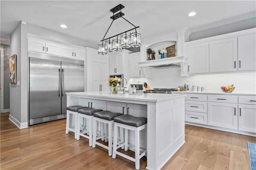
[(256, 70), (256, 34), (238, 37), (238, 71)]

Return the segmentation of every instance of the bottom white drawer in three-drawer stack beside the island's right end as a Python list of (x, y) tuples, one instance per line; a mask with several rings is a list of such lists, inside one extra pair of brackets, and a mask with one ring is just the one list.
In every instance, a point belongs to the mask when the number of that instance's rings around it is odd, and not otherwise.
[(207, 114), (185, 111), (185, 121), (207, 125)]

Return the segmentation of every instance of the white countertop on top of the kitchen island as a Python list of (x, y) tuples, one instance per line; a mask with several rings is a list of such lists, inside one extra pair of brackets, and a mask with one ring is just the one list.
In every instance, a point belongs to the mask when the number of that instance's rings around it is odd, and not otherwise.
[(186, 94), (156, 94), (156, 93), (138, 93), (136, 95), (129, 95), (128, 93), (122, 94), (112, 94), (109, 91), (93, 91), (93, 92), (74, 92), (66, 93), (67, 95), (76, 96), (88, 96), (88, 97), (100, 97), (104, 99), (120, 99), (120, 100), (132, 100), (132, 101), (150, 101), (150, 102), (160, 102), (170, 99), (176, 99), (179, 97), (185, 97)]

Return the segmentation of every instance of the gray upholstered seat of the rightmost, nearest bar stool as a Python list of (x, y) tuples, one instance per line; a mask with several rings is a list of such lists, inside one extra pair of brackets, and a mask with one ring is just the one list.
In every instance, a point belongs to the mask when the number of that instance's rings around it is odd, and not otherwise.
[(145, 117), (134, 117), (132, 115), (121, 115), (114, 118), (114, 122), (129, 125), (132, 127), (140, 127), (145, 125), (148, 121)]

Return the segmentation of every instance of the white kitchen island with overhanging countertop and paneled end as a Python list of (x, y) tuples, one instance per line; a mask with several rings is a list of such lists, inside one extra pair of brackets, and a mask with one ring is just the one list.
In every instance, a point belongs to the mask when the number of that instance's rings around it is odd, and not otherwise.
[[(147, 117), (147, 138), (141, 147), (147, 148), (147, 169), (160, 169), (185, 142), (184, 95), (138, 93), (136, 95), (110, 92), (66, 93), (67, 106), (82, 105)], [(129, 134), (132, 138), (132, 133)], [(129, 140), (129, 143), (134, 143)], [(132, 150), (132, 148), (129, 148)]]

